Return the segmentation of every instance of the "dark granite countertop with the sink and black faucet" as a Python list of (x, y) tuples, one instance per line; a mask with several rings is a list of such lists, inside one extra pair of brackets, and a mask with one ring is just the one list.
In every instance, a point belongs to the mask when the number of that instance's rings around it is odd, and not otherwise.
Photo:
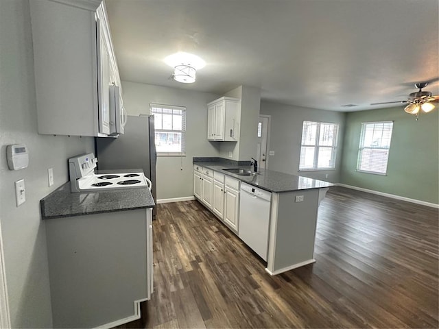
[(214, 160), (214, 161), (194, 160), (193, 164), (198, 164), (201, 167), (209, 168), (213, 171), (219, 171), (225, 175), (246, 182), (247, 184), (257, 186), (274, 193), (283, 193), (291, 191), (308, 190), (310, 188), (323, 188), (333, 186), (330, 182), (322, 180), (314, 180), (303, 176), (290, 175), (289, 173), (281, 173), (279, 171), (259, 169), (257, 175), (240, 176), (234, 173), (229, 173), (222, 169), (226, 168), (242, 168), (252, 171), (252, 167), (248, 165), (237, 165), (230, 162), (230, 160)]

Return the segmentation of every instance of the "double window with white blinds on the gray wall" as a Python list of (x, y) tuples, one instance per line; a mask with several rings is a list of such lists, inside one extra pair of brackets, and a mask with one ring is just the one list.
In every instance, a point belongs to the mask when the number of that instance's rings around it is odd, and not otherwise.
[(299, 170), (335, 168), (338, 123), (303, 121)]

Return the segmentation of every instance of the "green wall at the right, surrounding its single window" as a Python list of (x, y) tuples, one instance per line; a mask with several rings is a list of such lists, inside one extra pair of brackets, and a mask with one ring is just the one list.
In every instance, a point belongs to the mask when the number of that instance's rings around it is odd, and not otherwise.
[[(357, 172), (361, 123), (393, 121), (387, 175)], [(418, 121), (403, 108), (346, 113), (340, 182), (439, 204), (438, 109)]]

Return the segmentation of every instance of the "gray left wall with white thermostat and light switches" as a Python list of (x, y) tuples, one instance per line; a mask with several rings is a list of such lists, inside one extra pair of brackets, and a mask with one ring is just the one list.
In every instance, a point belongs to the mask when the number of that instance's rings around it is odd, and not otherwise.
[[(40, 199), (67, 182), (67, 158), (93, 151), (93, 138), (37, 134), (27, 0), (0, 1), (0, 220), (12, 328), (50, 328), (45, 223)], [(29, 167), (10, 171), (6, 145), (25, 143)], [(47, 185), (47, 168), (55, 184)], [(26, 202), (16, 207), (14, 182), (25, 179)]]

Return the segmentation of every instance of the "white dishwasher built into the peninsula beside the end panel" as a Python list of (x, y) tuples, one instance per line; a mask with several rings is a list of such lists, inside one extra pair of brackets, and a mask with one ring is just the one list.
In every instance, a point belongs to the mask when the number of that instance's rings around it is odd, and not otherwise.
[(241, 182), (238, 236), (261, 258), (268, 258), (272, 193)]

